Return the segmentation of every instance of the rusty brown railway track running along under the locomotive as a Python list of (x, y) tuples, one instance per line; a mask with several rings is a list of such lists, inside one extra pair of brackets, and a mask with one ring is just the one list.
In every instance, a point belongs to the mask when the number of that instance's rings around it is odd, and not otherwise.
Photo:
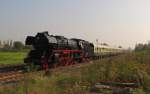
[[(79, 63), (70, 66), (60, 66), (56, 68), (51, 68), (49, 71), (60, 71), (63, 69), (72, 69), (74, 67), (82, 67), (91, 64), (90, 63)], [(43, 71), (43, 70), (39, 70)], [(29, 74), (32, 72), (25, 72), (25, 65), (17, 65), (17, 66), (7, 66), (0, 68), (0, 85), (2, 84), (9, 84), (9, 83), (16, 83), (19, 81), (23, 81), (25, 78), (25, 74)]]

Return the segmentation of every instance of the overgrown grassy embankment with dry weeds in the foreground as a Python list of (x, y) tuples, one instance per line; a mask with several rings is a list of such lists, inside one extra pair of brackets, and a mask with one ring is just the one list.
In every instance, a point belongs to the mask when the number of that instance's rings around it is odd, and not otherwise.
[[(136, 82), (133, 94), (150, 93), (150, 51), (95, 61), (80, 68), (66, 68), (49, 76), (33, 73), (28, 81), (0, 88), (2, 94), (88, 94), (100, 81)], [(13, 88), (12, 88), (13, 87)], [(28, 93), (27, 93), (28, 92)]]

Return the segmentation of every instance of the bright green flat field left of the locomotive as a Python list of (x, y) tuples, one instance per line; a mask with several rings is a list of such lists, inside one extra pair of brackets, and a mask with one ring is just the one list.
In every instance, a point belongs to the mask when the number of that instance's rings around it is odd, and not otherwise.
[(0, 52), (0, 65), (22, 64), (26, 52)]

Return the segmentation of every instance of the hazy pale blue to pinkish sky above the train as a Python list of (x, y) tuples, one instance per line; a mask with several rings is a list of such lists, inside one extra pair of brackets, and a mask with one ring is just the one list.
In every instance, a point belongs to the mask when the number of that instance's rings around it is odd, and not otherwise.
[(37, 32), (124, 48), (150, 40), (150, 0), (0, 0), (0, 39)]

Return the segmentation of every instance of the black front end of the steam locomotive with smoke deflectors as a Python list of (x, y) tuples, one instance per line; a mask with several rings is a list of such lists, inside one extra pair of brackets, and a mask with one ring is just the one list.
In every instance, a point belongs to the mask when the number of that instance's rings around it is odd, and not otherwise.
[[(50, 36), (48, 32), (37, 33), (35, 37), (28, 36), (25, 41), (26, 45), (31, 45), (32, 49), (24, 59), (24, 63), (28, 65), (42, 65), (43, 59), (51, 54), (55, 48), (57, 40)], [(46, 61), (45, 61), (46, 62)]]

